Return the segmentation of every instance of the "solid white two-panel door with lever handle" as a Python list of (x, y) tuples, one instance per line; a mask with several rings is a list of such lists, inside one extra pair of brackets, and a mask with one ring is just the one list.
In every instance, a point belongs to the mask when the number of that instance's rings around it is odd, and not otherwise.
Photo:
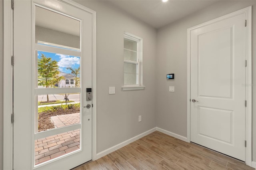
[(246, 14), (190, 32), (191, 141), (245, 161)]

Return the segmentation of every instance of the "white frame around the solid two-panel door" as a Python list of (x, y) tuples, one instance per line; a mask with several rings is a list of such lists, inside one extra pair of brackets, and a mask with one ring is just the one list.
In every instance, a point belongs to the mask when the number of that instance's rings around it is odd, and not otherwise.
[(187, 30), (187, 142), (190, 142), (190, 32), (194, 29), (225, 20), (232, 16), (246, 15), (246, 158), (248, 166), (252, 166), (252, 6), (210, 20)]

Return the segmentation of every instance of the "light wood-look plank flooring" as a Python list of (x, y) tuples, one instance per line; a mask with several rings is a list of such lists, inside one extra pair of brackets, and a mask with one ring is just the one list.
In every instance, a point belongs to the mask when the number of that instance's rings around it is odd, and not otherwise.
[(159, 131), (74, 170), (254, 170), (244, 162)]

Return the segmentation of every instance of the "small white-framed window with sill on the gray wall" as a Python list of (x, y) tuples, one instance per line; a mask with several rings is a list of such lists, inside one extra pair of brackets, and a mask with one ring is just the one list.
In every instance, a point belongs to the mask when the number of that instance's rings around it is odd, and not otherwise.
[(129, 33), (124, 34), (124, 87), (122, 89), (127, 89), (125, 87), (143, 87), (142, 38)]

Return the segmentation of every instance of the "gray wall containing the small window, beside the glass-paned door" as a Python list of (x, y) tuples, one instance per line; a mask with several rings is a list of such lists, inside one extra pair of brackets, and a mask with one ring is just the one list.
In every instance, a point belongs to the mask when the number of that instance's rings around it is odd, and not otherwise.
[[(76, 2), (97, 12), (97, 152), (101, 152), (156, 127), (156, 30), (108, 2)], [(124, 32), (143, 38), (145, 90), (121, 90)], [(116, 94), (108, 94), (110, 86), (116, 87)]]

